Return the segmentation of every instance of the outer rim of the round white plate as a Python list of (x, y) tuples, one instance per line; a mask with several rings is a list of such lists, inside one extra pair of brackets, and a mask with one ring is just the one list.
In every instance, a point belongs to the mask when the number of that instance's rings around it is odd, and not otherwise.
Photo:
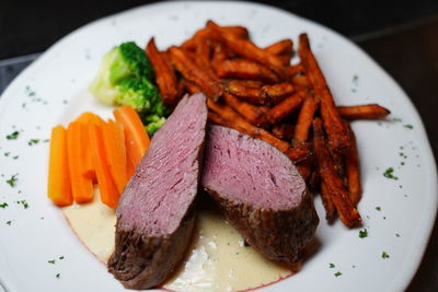
[[(260, 8), (260, 9), (267, 9), (267, 10), (274, 10), (276, 11), (276, 13), (281, 13), (281, 14), (287, 14), (288, 16), (292, 16), (296, 19), (299, 19), (299, 21), (301, 22), (306, 22), (309, 23), (313, 26), (316, 26), (320, 30), (324, 30), (324, 31), (328, 31), (331, 34), (333, 34), (334, 36), (341, 38), (344, 42), (347, 42), (349, 45), (351, 45), (351, 48), (354, 48), (358, 54), (361, 54), (367, 62), (371, 63), (374, 68), (380, 69), (380, 72), (383, 73), (383, 75), (392, 83), (391, 85), (396, 89), (399, 92), (402, 93), (402, 95), (404, 95), (403, 97), (405, 97), (405, 102), (406, 105), (410, 107), (410, 110), (413, 113), (413, 118), (418, 120), (418, 125), (416, 126), (416, 130), (418, 131), (420, 138), (422, 138), (422, 144), (424, 147), (425, 150), (425, 154), (428, 157), (431, 157), (431, 160), (429, 161), (428, 168), (429, 168), (429, 173), (430, 173), (430, 178), (429, 178), (429, 186), (428, 189), (430, 190), (431, 194), (438, 194), (438, 184), (437, 184), (437, 165), (436, 165), (436, 160), (435, 160), (435, 155), (434, 152), (431, 150), (431, 145), (430, 145), (430, 141), (429, 138), (427, 136), (423, 119), (417, 110), (417, 108), (415, 107), (414, 103), (412, 102), (411, 97), (405, 93), (405, 91), (403, 90), (403, 87), (387, 72), (387, 70), (384, 70), (376, 60), (373, 60), (364, 49), (361, 49), (356, 43), (351, 42), (350, 39), (348, 39), (346, 36), (343, 36), (342, 34), (337, 33), (336, 31), (332, 30), (328, 26), (322, 25), (318, 22), (314, 22), (312, 20), (302, 17), (300, 15), (297, 15), (292, 12), (289, 12), (287, 10), (283, 10), (280, 8), (277, 7), (273, 7), (266, 3), (257, 3), (257, 2), (251, 2), (251, 1), (164, 1), (164, 2), (155, 2), (155, 3), (148, 3), (148, 4), (141, 4), (138, 7), (134, 7), (111, 15), (106, 15), (104, 17), (94, 20), (92, 22), (89, 22), (73, 31), (71, 31), (70, 33), (68, 33), (67, 35), (65, 35), (64, 37), (61, 37), (60, 39), (58, 39), (56, 43), (54, 43), (47, 50), (45, 50), (34, 62), (32, 62), (30, 66), (27, 66), (18, 77), (14, 78), (14, 80), (4, 89), (3, 93), (0, 96), (0, 113), (2, 110), (4, 110), (7, 108), (7, 105), (12, 101), (13, 98), (13, 92), (19, 90), (19, 84), (22, 83), (24, 80), (28, 79), (28, 75), (31, 75), (33, 72), (38, 71), (38, 68), (41, 66), (43, 66), (46, 62), (47, 58), (50, 58), (53, 51), (56, 51), (58, 49), (58, 47), (62, 46), (62, 44), (65, 44), (66, 42), (68, 42), (71, 37), (74, 37), (76, 34), (80, 33), (81, 31), (87, 30), (90, 26), (94, 26), (99, 23), (105, 22), (108, 19), (113, 19), (113, 17), (118, 17), (120, 15), (124, 14), (129, 14), (132, 13), (135, 11), (138, 10), (142, 10), (142, 9), (148, 9), (148, 8), (153, 8), (153, 7), (165, 7), (165, 5), (181, 5), (181, 4), (212, 4), (212, 5), (229, 5), (229, 4), (240, 4), (240, 5), (251, 5), (251, 7), (255, 7), (255, 8)], [(415, 232), (415, 235), (418, 235), (417, 233), (419, 233), (419, 237), (420, 241), (418, 241), (419, 243), (417, 244), (416, 249), (412, 250), (413, 252), (413, 257), (415, 258), (415, 264), (414, 265), (407, 265), (408, 267), (406, 267), (404, 269), (403, 275), (400, 275), (400, 278), (402, 278), (399, 281), (395, 281), (395, 283), (393, 283), (391, 287), (394, 290), (403, 290), (406, 289), (408, 287), (408, 284), (412, 282), (413, 278), (415, 277), (420, 264), (422, 264), (422, 259), (423, 256), (426, 252), (426, 248), (428, 246), (430, 236), (433, 234), (434, 231), (434, 224), (437, 220), (437, 211), (438, 211), (438, 198), (437, 196), (431, 197), (430, 198), (435, 208), (430, 208), (428, 211), (428, 213), (425, 215), (425, 221), (424, 226), (422, 230), (417, 230)], [(404, 277), (402, 277), (404, 276)], [(3, 280), (2, 276), (0, 275), (0, 287), (4, 285), (5, 291), (15, 291), (9, 288), (9, 284), (7, 284), (7, 281)]]

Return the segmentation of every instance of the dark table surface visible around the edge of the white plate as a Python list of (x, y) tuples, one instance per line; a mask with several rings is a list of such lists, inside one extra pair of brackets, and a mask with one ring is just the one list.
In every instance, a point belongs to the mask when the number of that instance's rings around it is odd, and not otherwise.
[[(26, 3), (0, 0), (0, 93), (37, 54), (60, 37), (93, 20), (148, 2), (152, 1), (76, 0)], [(283, 8), (324, 24), (357, 43), (412, 98), (423, 117), (437, 156), (437, 0), (256, 2)], [(438, 291), (437, 224), (422, 266), (407, 291)]]

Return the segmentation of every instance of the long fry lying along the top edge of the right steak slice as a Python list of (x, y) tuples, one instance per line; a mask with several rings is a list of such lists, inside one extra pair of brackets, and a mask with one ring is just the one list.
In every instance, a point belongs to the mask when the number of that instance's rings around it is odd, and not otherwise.
[[(253, 138), (264, 140), (265, 142), (272, 144), (273, 147), (277, 148), (279, 151), (286, 153), (289, 150), (290, 145), (288, 142), (281, 141), (275, 138), (268, 131), (257, 128), (246, 121), (242, 116), (235, 113), (231, 107), (227, 105), (221, 105), (215, 103), (211, 100), (207, 101), (208, 107), (215, 112), (216, 116), (210, 116), (209, 118), (215, 121), (216, 124), (233, 128), (240, 132), (246, 133)], [(215, 120), (216, 118), (216, 120)], [(296, 155), (300, 157), (300, 155)]]

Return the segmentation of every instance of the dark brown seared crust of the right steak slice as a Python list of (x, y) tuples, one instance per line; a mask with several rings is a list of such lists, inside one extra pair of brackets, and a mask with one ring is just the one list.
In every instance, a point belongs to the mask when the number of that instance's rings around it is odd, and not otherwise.
[(274, 211), (229, 200), (214, 190), (206, 190), (243, 238), (275, 261), (288, 265), (297, 262), (320, 222), (310, 192), (306, 194), (297, 208)]

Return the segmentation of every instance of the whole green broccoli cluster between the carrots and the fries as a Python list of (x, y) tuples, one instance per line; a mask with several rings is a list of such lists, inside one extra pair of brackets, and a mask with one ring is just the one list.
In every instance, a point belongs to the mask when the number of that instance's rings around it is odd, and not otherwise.
[(90, 91), (104, 104), (132, 106), (153, 136), (168, 115), (153, 78), (145, 51), (132, 42), (124, 43), (104, 56)]

